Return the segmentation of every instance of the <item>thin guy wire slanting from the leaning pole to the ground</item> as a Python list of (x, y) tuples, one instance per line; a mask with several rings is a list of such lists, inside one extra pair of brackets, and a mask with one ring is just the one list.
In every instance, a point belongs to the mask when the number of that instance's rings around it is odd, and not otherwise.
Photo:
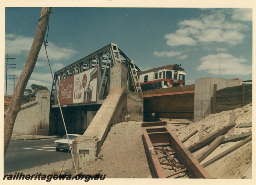
[[(47, 11), (48, 11), (48, 8), (47, 8)], [(52, 12), (48, 11), (48, 13), (45, 14), (44, 16), (49, 15), (50, 13), (52, 13)], [(40, 21), (44, 16), (42, 16), (41, 18), (39, 18), (39, 20), (38, 20), (38, 22), (37, 22), (38, 26), (40, 27), (40, 29), (41, 29), (41, 31), (42, 31), (43, 39), (44, 39), (44, 36), (45, 36), (45, 35), (44, 35), (43, 30), (42, 30), (42, 28), (41, 28), (41, 26), (40, 26), (40, 24), (39, 24), (39, 21)], [(47, 39), (48, 39), (49, 25), (50, 25), (49, 22), (50, 22), (50, 21), (48, 21), (48, 31), (47, 31), (46, 41), (43, 40), (43, 42), (44, 42), (44, 48), (45, 48), (47, 60), (48, 60), (48, 63), (49, 63), (49, 67), (50, 67), (50, 70), (51, 70), (51, 74), (52, 74), (51, 64), (50, 64), (49, 57), (48, 57), (48, 54), (47, 54), (47, 49), (46, 49), (46, 46), (47, 46), (47, 43), (48, 43), (48, 42), (47, 42)], [(52, 74), (52, 80), (54, 81), (53, 74)], [(73, 156), (73, 152), (72, 152), (72, 149), (71, 149), (71, 145), (70, 145), (70, 141), (69, 141), (69, 137), (68, 137), (68, 131), (67, 131), (66, 124), (65, 124), (65, 121), (64, 121), (64, 116), (63, 116), (63, 114), (62, 114), (62, 110), (61, 110), (61, 107), (60, 107), (60, 100), (59, 100), (59, 95), (58, 95), (58, 93), (57, 93), (57, 98), (58, 98), (58, 105), (59, 105), (59, 108), (60, 108), (60, 114), (61, 114), (62, 121), (63, 121), (63, 124), (64, 124), (65, 132), (66, 132), (66, 135), (67, 135), (67, 138), (68, 138), (69, 150), (70, 150), (70, 152), (71, 152), (72, 160), (73, 160), (74, 167), (75, 167), (75, 170), (76, 170), (76, 163), (75, 163), (74, 156)], [(64, 164), (65, 164), (65, 163), (64, 163)], [(76, 175), (77, 175), (77, 174), (78, 174), (78, 173), (77, 173), (77, 170), (76, 170)]]

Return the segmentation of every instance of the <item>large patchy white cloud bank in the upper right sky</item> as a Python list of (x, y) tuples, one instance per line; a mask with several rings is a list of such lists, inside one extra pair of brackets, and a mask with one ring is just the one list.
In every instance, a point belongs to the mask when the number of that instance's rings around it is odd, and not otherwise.
[(196, 19), (180, 21), (180, 29), (175, 33), (166, 34), (164, 38), (167, 39), (168, 46), (196, 46), (205, 43), (236, 45), (244, 41), (245, 34), (242, 31), (248, 28), (239, 22), (240, 20), (252, 20), (252, 10), (213, 9), (210, 15), (202, 14)]

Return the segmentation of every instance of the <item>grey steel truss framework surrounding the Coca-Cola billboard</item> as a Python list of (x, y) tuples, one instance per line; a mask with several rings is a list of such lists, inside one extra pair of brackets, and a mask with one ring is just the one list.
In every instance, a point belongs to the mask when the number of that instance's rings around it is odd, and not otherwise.
[(129, 91), (141, 92), (137, 72), (141, 70), (118, 47), (111, 43), (104, 48), (68, 65), (54, 73), (51, 92), (51, 107), (58, 107), (57, 93), (60, 80), (98, 66), (97, 102), (79, 103), (65, 106), (102, 104), (110, 91), (110, 69), (117, 63), (123, 63), (128, 69), (127, 85)]

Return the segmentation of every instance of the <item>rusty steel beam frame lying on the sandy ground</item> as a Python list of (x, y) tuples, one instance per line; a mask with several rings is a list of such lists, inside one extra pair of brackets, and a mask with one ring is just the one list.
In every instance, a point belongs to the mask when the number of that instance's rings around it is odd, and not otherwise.
[[(164, 171), (161, 165), (176, 166), (176, 167), (178, 166), (180, 168), (186, 168), (186, 169), (180, 170), (179, 173), (185, 170), (188, 170), (188, 172), (191, 174), (193, 178), (212, 178), (204, 169), (204, 167), (196, 160), (196, 158), (191, 154), (191, 152), (188, 151), (188, 149), (184, 146), (184, 144), (178, 139), (178, 137), (172, 132), (172, 130), (168, 126), (164, 125), (164, 126), (161, 126), (160, 128), (142, 127), (142, 131), (143, 131), (143, 142), (151, 163), (152, 170), (158, 178), (168, 178), (170, 176), (177, 174), (177, 173), (174, 173), (166, 176), (164, 174)], [(173, 149), (173, 150), (172, 149), (170, 150), (172, 153), (168, 153), (168, 154), (166, 153), (166, 155), (158, 157), (156, 154), (156, 150), (158, 151), (162, 151), (162, 150), (159, 148), (154, 148), (154, 146), (157, 144), (166, 144), (166, 143), (169, 143), (170, 147)], [(183, 165), (180, 165), (176, 162), (175, 164), (172, 164), (172, 163), (164, 163), (162, 161), (159, 161), (159, 159), (164, 157), (170, 158), (170, 155), (173, 155), (173, 154), (176, 154), (179, 157)]]

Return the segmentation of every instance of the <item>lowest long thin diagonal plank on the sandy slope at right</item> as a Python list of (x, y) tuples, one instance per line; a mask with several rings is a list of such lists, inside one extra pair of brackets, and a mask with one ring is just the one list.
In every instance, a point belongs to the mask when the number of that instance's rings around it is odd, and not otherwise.
[(216, 157), (210, 159), (209, 161), (205, 162), (204, 164), (202, 164), (203, 167), (209, 166), (210, 164), (216, 162), (217, 160), (225, 157), (226, 155), (228, 155), (229, 153), (235, 151), (236, 149), (240, 148), (241, 146), (243, 146), (244, 144), (248, 143), (252, 141), (252, 135), (247, 137), (246, 139), (244, 139), (243, 141), (241, 141), (240, 143), (236, 144), (235, 146), (229, 148), (228, 150), (220, 153), (219, 155), (217, 155)]

